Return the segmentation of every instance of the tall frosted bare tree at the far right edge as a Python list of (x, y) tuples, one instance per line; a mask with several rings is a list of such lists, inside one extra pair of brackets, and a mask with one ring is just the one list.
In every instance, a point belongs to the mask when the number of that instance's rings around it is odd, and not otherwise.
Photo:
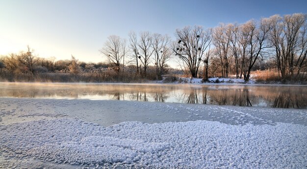
[(267, 24), (272, 27), (269, 31), (269, 42), (274, 46), (275, 59), (281, 79), (285, 80), (288, 73), (299, 76), (307, 57), (307, 15), (293, 14), (280, 17), (271, 16)]

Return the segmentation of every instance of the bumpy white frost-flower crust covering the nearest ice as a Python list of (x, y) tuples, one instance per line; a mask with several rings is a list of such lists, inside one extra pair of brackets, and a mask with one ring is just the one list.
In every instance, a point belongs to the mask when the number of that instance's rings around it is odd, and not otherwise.
[(11, 157), (82, 166), (305, 168), (306, 133), (305, 126), (284, 123), (124, 122), (105, 128), (55, 119), (0, 126), (0, 149)]

